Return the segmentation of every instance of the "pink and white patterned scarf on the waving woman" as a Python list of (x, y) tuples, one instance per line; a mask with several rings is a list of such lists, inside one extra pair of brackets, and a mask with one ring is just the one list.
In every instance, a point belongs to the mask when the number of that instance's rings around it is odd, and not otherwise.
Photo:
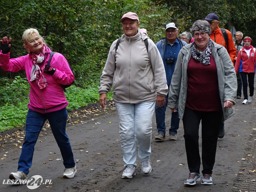
[(31, 55), (33, 66), (31, 69), (30, 81), (36, 80), (36, 83), (38, 84), (38, 87), (40, 89), (47, 87), (47, 82), (46, 82), (46, 79), (44, 78), (44, 75), (38, 63), (42, 63), (45, 60), (47, 52), (48, 52), (47, 47), (44, 44), (42, 47), (42, 52), (39, 55), (36, 55), (34, 53), (32, 53)]

